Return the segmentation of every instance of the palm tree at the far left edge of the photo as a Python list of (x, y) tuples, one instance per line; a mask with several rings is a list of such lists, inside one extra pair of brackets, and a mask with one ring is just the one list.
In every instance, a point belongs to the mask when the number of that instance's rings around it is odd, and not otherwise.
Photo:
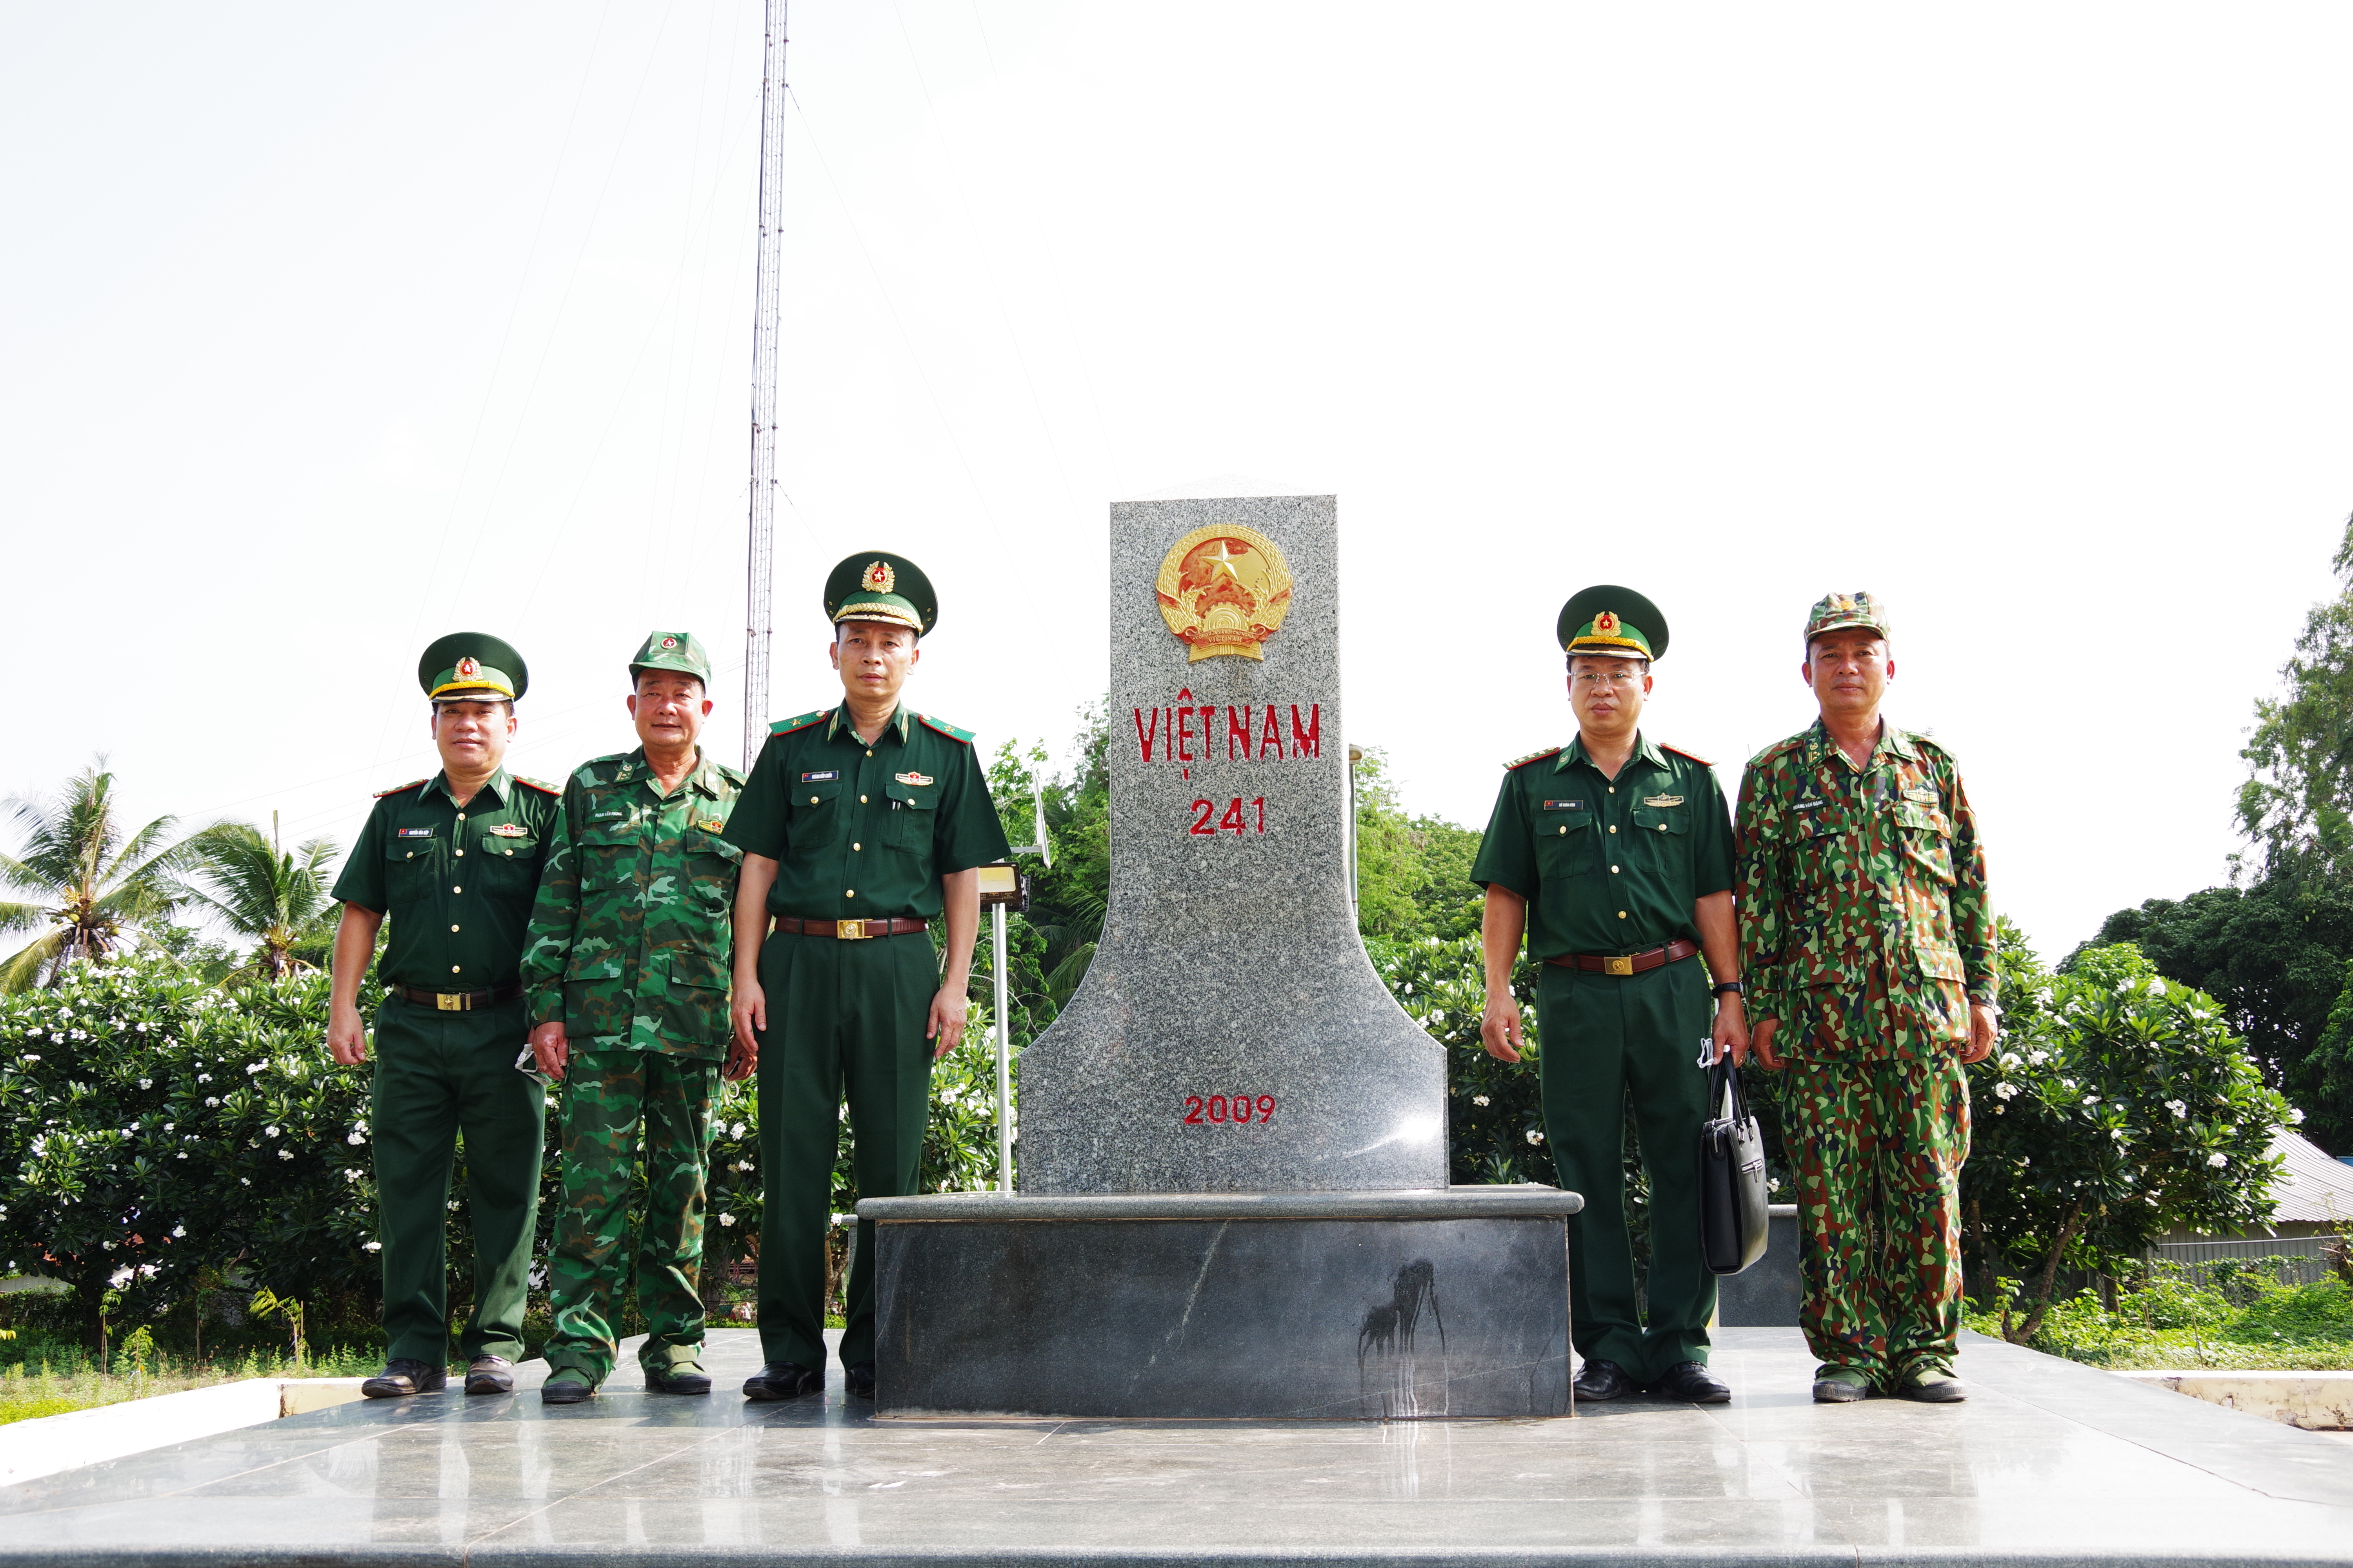
[(191, 856), (186, 839), (172, 842), (179, 818), (125, 835), (106, 757), (54, 797), (12, 795), (0, 811), (24, 835), (21, 856), (0, 856), (0, 886), (33, 896), (0, 903), (0, 933), (40, 931), (0, 961), (0, 992), (56, 985), (68, 964), (115, 952), (134, 926), (172, 912), (172, 872)]

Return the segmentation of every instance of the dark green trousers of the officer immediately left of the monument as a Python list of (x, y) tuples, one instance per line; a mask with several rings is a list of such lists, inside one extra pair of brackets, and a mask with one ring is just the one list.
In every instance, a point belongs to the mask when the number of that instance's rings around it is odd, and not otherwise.
[[(769, 1361), (826, 1363), (826, 1227), (842, 1091), (849, 1093), (859, 1197), (915, 1190), (932, 1114), (939, 992), (922, 936), (767, 938), (760, 947), (767, 1032), (760, 1037), (760, 1349)], [(875, 1227), (859, 1220), (842, 1284), (842, 1366), (875, 1359)]]

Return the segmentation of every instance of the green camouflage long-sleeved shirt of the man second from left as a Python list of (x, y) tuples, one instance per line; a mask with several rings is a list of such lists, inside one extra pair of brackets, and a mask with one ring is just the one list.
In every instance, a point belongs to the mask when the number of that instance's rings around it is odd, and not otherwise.
[(574, 769), (548, 837), (522, 983), (574, 1051), (718, 1060), (734, 1034), (734, 884), (720, 839), (744, 776), (708, 755), (661, 795), (645, 748)]

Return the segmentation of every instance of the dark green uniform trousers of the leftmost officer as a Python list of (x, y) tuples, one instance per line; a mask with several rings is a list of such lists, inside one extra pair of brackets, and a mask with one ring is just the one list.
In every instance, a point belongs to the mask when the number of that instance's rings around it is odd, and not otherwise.
[(539, 1081), (515, 1072), (527, 1027), (520, 997), (475, 1013), (400, 997), (376, 1009), (369, 1128), (388, 1359), (449, 1363), (449, 1168), (459, 1135), (473, 1227), (473, 1312), (459, 1356), (522, 1359), (546, 1117)]

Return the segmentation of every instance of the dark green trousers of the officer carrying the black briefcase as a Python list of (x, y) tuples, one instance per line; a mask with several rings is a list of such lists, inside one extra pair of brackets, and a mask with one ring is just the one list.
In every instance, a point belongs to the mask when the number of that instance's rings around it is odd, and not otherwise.
[[(1569, 1338), (1577, 1354), (1654, 1382), (1708, 1359), (1715, 1274), (1699, 1255), (1699, 1124), (1708, 1072), (1708, 973), (1692, 959), (1638, 976), (1546, 964), (1537, 983), (1544, 1135), (1569, 1218)], [(1626, 1232), (1626, 1107), (1649, 1173), (1649, 1324), (1635, 1305)]]

